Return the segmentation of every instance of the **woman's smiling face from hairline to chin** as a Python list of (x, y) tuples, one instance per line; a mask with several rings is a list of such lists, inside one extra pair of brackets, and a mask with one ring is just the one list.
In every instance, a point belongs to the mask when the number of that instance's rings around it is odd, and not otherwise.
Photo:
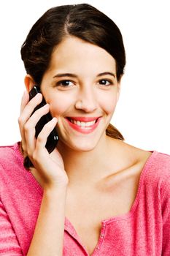
[(105, 138), (120, 92), (115, 59), (106, 50), (66, 37), (53, 51), (41, 90), (58, 118), (62, 146), (90, 151)]

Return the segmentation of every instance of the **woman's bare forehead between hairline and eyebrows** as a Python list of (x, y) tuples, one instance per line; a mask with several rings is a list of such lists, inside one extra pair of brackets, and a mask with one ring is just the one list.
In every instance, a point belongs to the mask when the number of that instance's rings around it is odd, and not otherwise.
[[(103, 48), (77, 37), (67, 37), (55, 48), (51, 68), (97, 69), (98, 72), (115, 71), (115, 59)], [(72, 71), (73, 72), (73, 71)]]

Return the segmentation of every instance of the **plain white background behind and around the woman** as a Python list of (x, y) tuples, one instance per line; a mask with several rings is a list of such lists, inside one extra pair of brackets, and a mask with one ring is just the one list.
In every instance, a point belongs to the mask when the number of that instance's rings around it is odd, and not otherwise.
[[(20, 140), (18, 116), (25, 89), (20, 46), (31, 26), (50, 7), (83, 1), (1, 1), (0, 145)], [(123, 34), (127, 64), (112, 124), (125, 141), (170, 154), (169, 1), (86, 0), (115, 21)]]

